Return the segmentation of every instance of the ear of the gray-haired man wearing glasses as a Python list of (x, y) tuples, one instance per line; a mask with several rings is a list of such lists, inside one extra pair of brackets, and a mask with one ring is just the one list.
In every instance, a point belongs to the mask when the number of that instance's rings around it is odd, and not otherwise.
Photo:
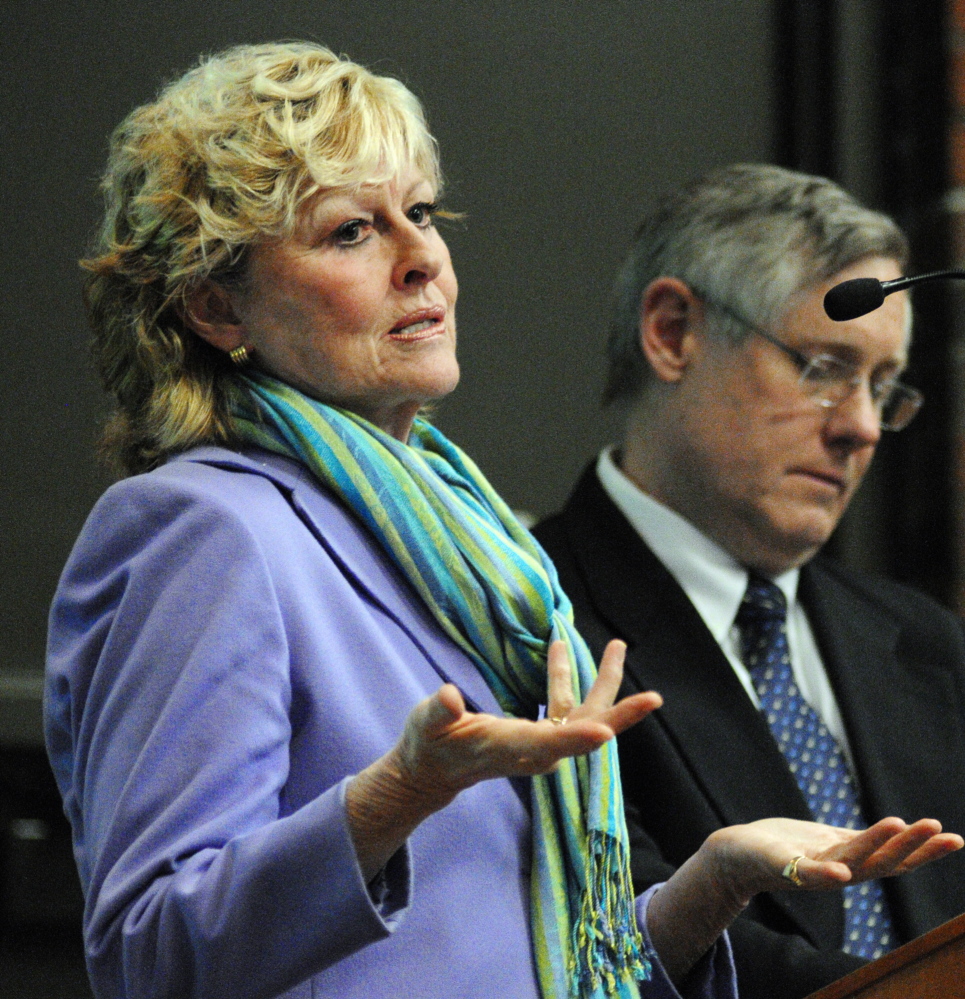
[(663, 382), (681, 379), (703, 325), (700, 299), (679, 278), (651, 281), (640, 299), (640, 347)]

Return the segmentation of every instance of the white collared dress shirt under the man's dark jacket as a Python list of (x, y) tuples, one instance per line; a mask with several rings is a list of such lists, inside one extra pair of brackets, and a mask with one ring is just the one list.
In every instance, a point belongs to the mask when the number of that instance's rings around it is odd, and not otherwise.
[[(697, 530), (689, 520), (649, 496), (627, 478), (613, 460), (612, 447), (600, 454), (596, 473), (610, 499), (690, 598), (747, 691), (747, 696), (759, 708), (757, 692), (741, 660), (740, 629), (734, 623), (747, 589), (747, 569)], [(799, 575), (798, 569), (791, 569), (774, 578), (774, 583), (787, 599), (791, 669), (801, 695), (824, 720), (850, 763), (850, 748), (838, 702), (807, 614), (797, 599)]]

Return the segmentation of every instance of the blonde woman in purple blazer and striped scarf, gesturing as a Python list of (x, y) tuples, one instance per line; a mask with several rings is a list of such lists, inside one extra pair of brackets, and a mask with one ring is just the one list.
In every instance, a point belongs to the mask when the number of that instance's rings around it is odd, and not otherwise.
[(633, 899), (611, 740), (660, 699), (613, 703), (619, 643), (597, 676), (417, 419), (458, 380), (457, 287), (401, 84), (230, 50), (121, 125), (105, 190), (88, 305), (129, 477), (47, 687), (99, 996), (728, 995), (754, 893), (961, 845), (768, 820)]

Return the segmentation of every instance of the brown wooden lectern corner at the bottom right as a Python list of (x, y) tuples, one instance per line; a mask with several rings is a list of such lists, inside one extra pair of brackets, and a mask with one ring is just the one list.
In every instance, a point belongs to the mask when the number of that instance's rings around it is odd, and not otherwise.
[(808, 999), (965, 999), (965, 914)]

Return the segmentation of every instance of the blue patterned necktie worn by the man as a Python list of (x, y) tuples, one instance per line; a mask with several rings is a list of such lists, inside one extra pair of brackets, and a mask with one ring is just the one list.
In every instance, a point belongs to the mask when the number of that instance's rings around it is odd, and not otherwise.
[[(815, 820), (864, 829), (844, 753), (794, 682), (786, 618), (780, 587), (751, 574), (736, 623), (761, 712)], [(891, 950), (894, 933), (880, 881), (846, 885), (844, 910), (844, 951), (873, 960)]]

